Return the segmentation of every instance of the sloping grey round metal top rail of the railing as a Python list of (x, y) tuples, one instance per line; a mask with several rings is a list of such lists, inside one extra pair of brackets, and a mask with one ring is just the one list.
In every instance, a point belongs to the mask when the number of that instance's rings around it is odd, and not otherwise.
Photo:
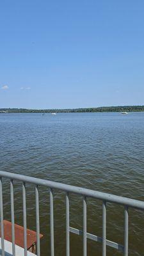
[(60, 182), (38, 179), (35, 177), (29, 177), (26, 175), (20, 175), (20, 174), (10, 173), (10, 172), (0, 171), (0, 177), (5, 177), (11, 180), (20, 180), (22, 182), (28, 182), (31, 184), (46, 186), (48, 188), (60, 189), (61, 191), (67, 191), (68, 193), (75, 193), (79, 195), (89, 196), (92, 198), (97, 198), (99, 200), (104, 200), (106, 202), (113, 202), (116, 204), (127, 205), (132, 208), (144, 210), (144, 202), (140, 200), (135, 200), (135, 199), (126, 198), (122, 196), (116, 196), (108, 193), (94, 191), (91, 189), (71, 186), (71, 185), (60, 183)]

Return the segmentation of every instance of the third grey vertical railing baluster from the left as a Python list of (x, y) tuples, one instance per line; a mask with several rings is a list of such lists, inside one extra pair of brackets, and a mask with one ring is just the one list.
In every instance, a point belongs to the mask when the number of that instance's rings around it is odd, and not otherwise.
[(22, 198), (23, 198), (23, 225), (24, 225), (24, 256), (27, 256), (26, 184), (25, 182), (22, 182)]

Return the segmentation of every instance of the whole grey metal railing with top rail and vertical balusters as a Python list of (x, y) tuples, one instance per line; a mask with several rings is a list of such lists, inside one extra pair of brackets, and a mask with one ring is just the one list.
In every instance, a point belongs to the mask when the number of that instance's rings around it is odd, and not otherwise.
[[(24, 256), (27, 256), (27, 218), (26, 218), (26, 183), (35, 184), (35, 200), (36, 200), (36, 248), (37, 255), (40, 256), (40, 220), (39, 220), (39, 192), (38, 186), (46, 186), (50, 189), (50, 227), (51, 227), (51, 256), (54, 256), (54, 205), (53, 205), (53, 189), (60, 189), (65, 191), (66, 204), (66, 256), (70, 256), (70, 232), (83, 236), (83, 256), (87, 255), (87, 239), (99, 241), (102, 243), (102, 256), (106, 256), (106, 247), (111, 246), (116, 250), (128, 256), (129, 250), (129, 207), (134, 209), (144, 210), (144, 202), (125, 198), (122, 196), (111, 195), (90, 189), (79, 188), (61, 184), (59, 182), (52, 182), (44, 179), (37, 179), (25, 175), (15, 173), (0, 172), (0, 214), (1, 214), (1, 247), (2, 256), (4, 256), (4, 227), (3, 227), (3, 185), (2, 178), (10, 179), (10, 198), (11, 198), (11, 217), (12, 217), (12, 252), (15, 256), (15, 221), (14, 221), (14, 194), (13, 194), (13, 180), (20, 180), (22, 182), (22, 200), (23, 200), (23, 225), (24, 225)], [(69, 210), (69, 194), (74, 193), (83, 196), (83, 230), (70, 227), (70, 210)], [(86, 198), (97, 198), (102, 201), (102, 237), (95, 236), (87, 232), (86, 228)], [(113, 202), (115, 204), (124, 205), (124, 245), (109, 241), (106, 239), (106, 204)]]

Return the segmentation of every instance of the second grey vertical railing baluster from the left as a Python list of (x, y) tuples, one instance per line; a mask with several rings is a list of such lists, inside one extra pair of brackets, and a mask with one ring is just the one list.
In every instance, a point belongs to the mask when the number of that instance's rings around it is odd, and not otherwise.
[(10, 180), (10, 202), (11, 202), (11, 220), (12, 220), (12, 252), (13, 252), (13, 256), (15, 256), (15, 215), (14, 215), (13, 180)]

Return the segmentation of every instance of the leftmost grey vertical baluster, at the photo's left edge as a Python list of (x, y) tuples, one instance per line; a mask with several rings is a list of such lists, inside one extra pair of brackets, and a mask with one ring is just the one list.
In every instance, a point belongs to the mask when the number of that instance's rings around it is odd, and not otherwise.
[(2, 248), (2, 256), (4, 256), (3, 186), (2, 186), (1, 177), (0, 177), (0, 211), (1, 211), (1, 248)]

